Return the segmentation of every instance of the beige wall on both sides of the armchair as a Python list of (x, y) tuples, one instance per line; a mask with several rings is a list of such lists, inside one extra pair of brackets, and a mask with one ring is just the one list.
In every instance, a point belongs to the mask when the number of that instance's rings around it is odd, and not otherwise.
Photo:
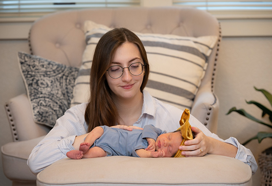
[[(0, 40), (0, 146), (12, 141), (3, 105), (11, 97), (25, 93), (16, 57), (18, 51), (29, 52), (27, 40)], [(246, 108), (254, 116), (260, 116), (258, 109), (247, 105), (245, 99), (259, 101), (271, 108), (264, 96), (253, 89), (256, 86), (272, 93), (271, 60), (272, 37), (223, 37), (215, 84), (215, 93), (220, 100), (218, 135), (221, 138), (233, 136), (244, 142), (257, 131), (267, 130), (267, 127), (236, 113), (228, 116), (226, 113), (236, 106)], [(260, 145), (256, 140), (252, 141), (247, 147), (257, 159), (258, 154), (271, 145), (272, 139), (266, 139)], [(253, 176), (253, 186), (259, 186), (259, 182), (260, 170)], [(2, 168), (0, 185), (11, 186)]]

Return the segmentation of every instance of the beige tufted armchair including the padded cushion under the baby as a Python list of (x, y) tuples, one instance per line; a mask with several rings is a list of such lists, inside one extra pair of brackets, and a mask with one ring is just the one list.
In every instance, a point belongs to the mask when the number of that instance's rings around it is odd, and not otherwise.
[[(142, 33), (217, 36), (218, 41), (207, 59), (205, 75), (191, 108), (191, 114), (216, 133), (219, 102), (213, 93), (213, 84), (221, 32), (214, 17), (201, 10), (174, 7), (64, 11), (33, 23), (29, 35), (32, 53), (61, 64), (80, 67), (86, 47), (83, 26), (87, 20)], [(5, 108), (14, 142), (1, 148), (4, 173), (14, 186), (36, 185), (36, 175), (30, 172), (26, 161), (32, 148), (50, 128), (34, 122), (26, 94), (10, 99)], [(178, 169), (175, 168), (177, 166)], [(188, 168), (183, 170), (183, 167)], [(215, 155), (178, 160), (107, 157), (77, 162), (63, 159), (39, 173), (37, 184), (250, 185), (251, 170), (240, 161)]]

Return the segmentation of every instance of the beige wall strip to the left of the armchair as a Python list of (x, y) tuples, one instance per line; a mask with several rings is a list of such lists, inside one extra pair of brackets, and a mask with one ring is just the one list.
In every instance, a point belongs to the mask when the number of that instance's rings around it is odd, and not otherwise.
[[(27, 40), (0, 40), (0, 146), (12, 141), (4, 104), (10, 98), (25, 93), (17, 62), (18, 51), (29, 53)], [(0, 161), (0, 186), (11, 186), (11, 181), (4, 176), (2, 161)]]

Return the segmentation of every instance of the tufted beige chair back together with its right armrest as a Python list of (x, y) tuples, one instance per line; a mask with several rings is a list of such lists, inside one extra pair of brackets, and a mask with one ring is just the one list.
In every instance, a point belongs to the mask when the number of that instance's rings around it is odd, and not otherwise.
[[(80, 67), (86, 47), (83, 26), (87, 20), (108, 27), (126, 27), (141, 33), (189, 37), (218, 36), (218, 44), (208, 58), (206, 73), (191, 109), (192, 115), (196, 116), (209, 130), (216, 132), (219, 105), (213, 93), (213, 84), (221, 40), (220, 25), (216, 18), (198, 9), (180, 7), (62, 11), (49, 14), (33, 24), (29, 32), (31, 53), (62, 64)], [(207, 100), (207, 104), (203, 103), (203, 99)]]

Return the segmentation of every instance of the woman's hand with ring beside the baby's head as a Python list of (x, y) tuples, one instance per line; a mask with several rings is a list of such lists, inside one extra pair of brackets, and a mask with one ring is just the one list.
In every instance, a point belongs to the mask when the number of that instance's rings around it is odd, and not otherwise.
[(191, 127), (191, 129), (195, 133), (195, 139), (187, 140), (179, 147), (182, 150), (181, 154), (186, 157), (204, 156), (210, 150), (210, 138), (197, 127)]

